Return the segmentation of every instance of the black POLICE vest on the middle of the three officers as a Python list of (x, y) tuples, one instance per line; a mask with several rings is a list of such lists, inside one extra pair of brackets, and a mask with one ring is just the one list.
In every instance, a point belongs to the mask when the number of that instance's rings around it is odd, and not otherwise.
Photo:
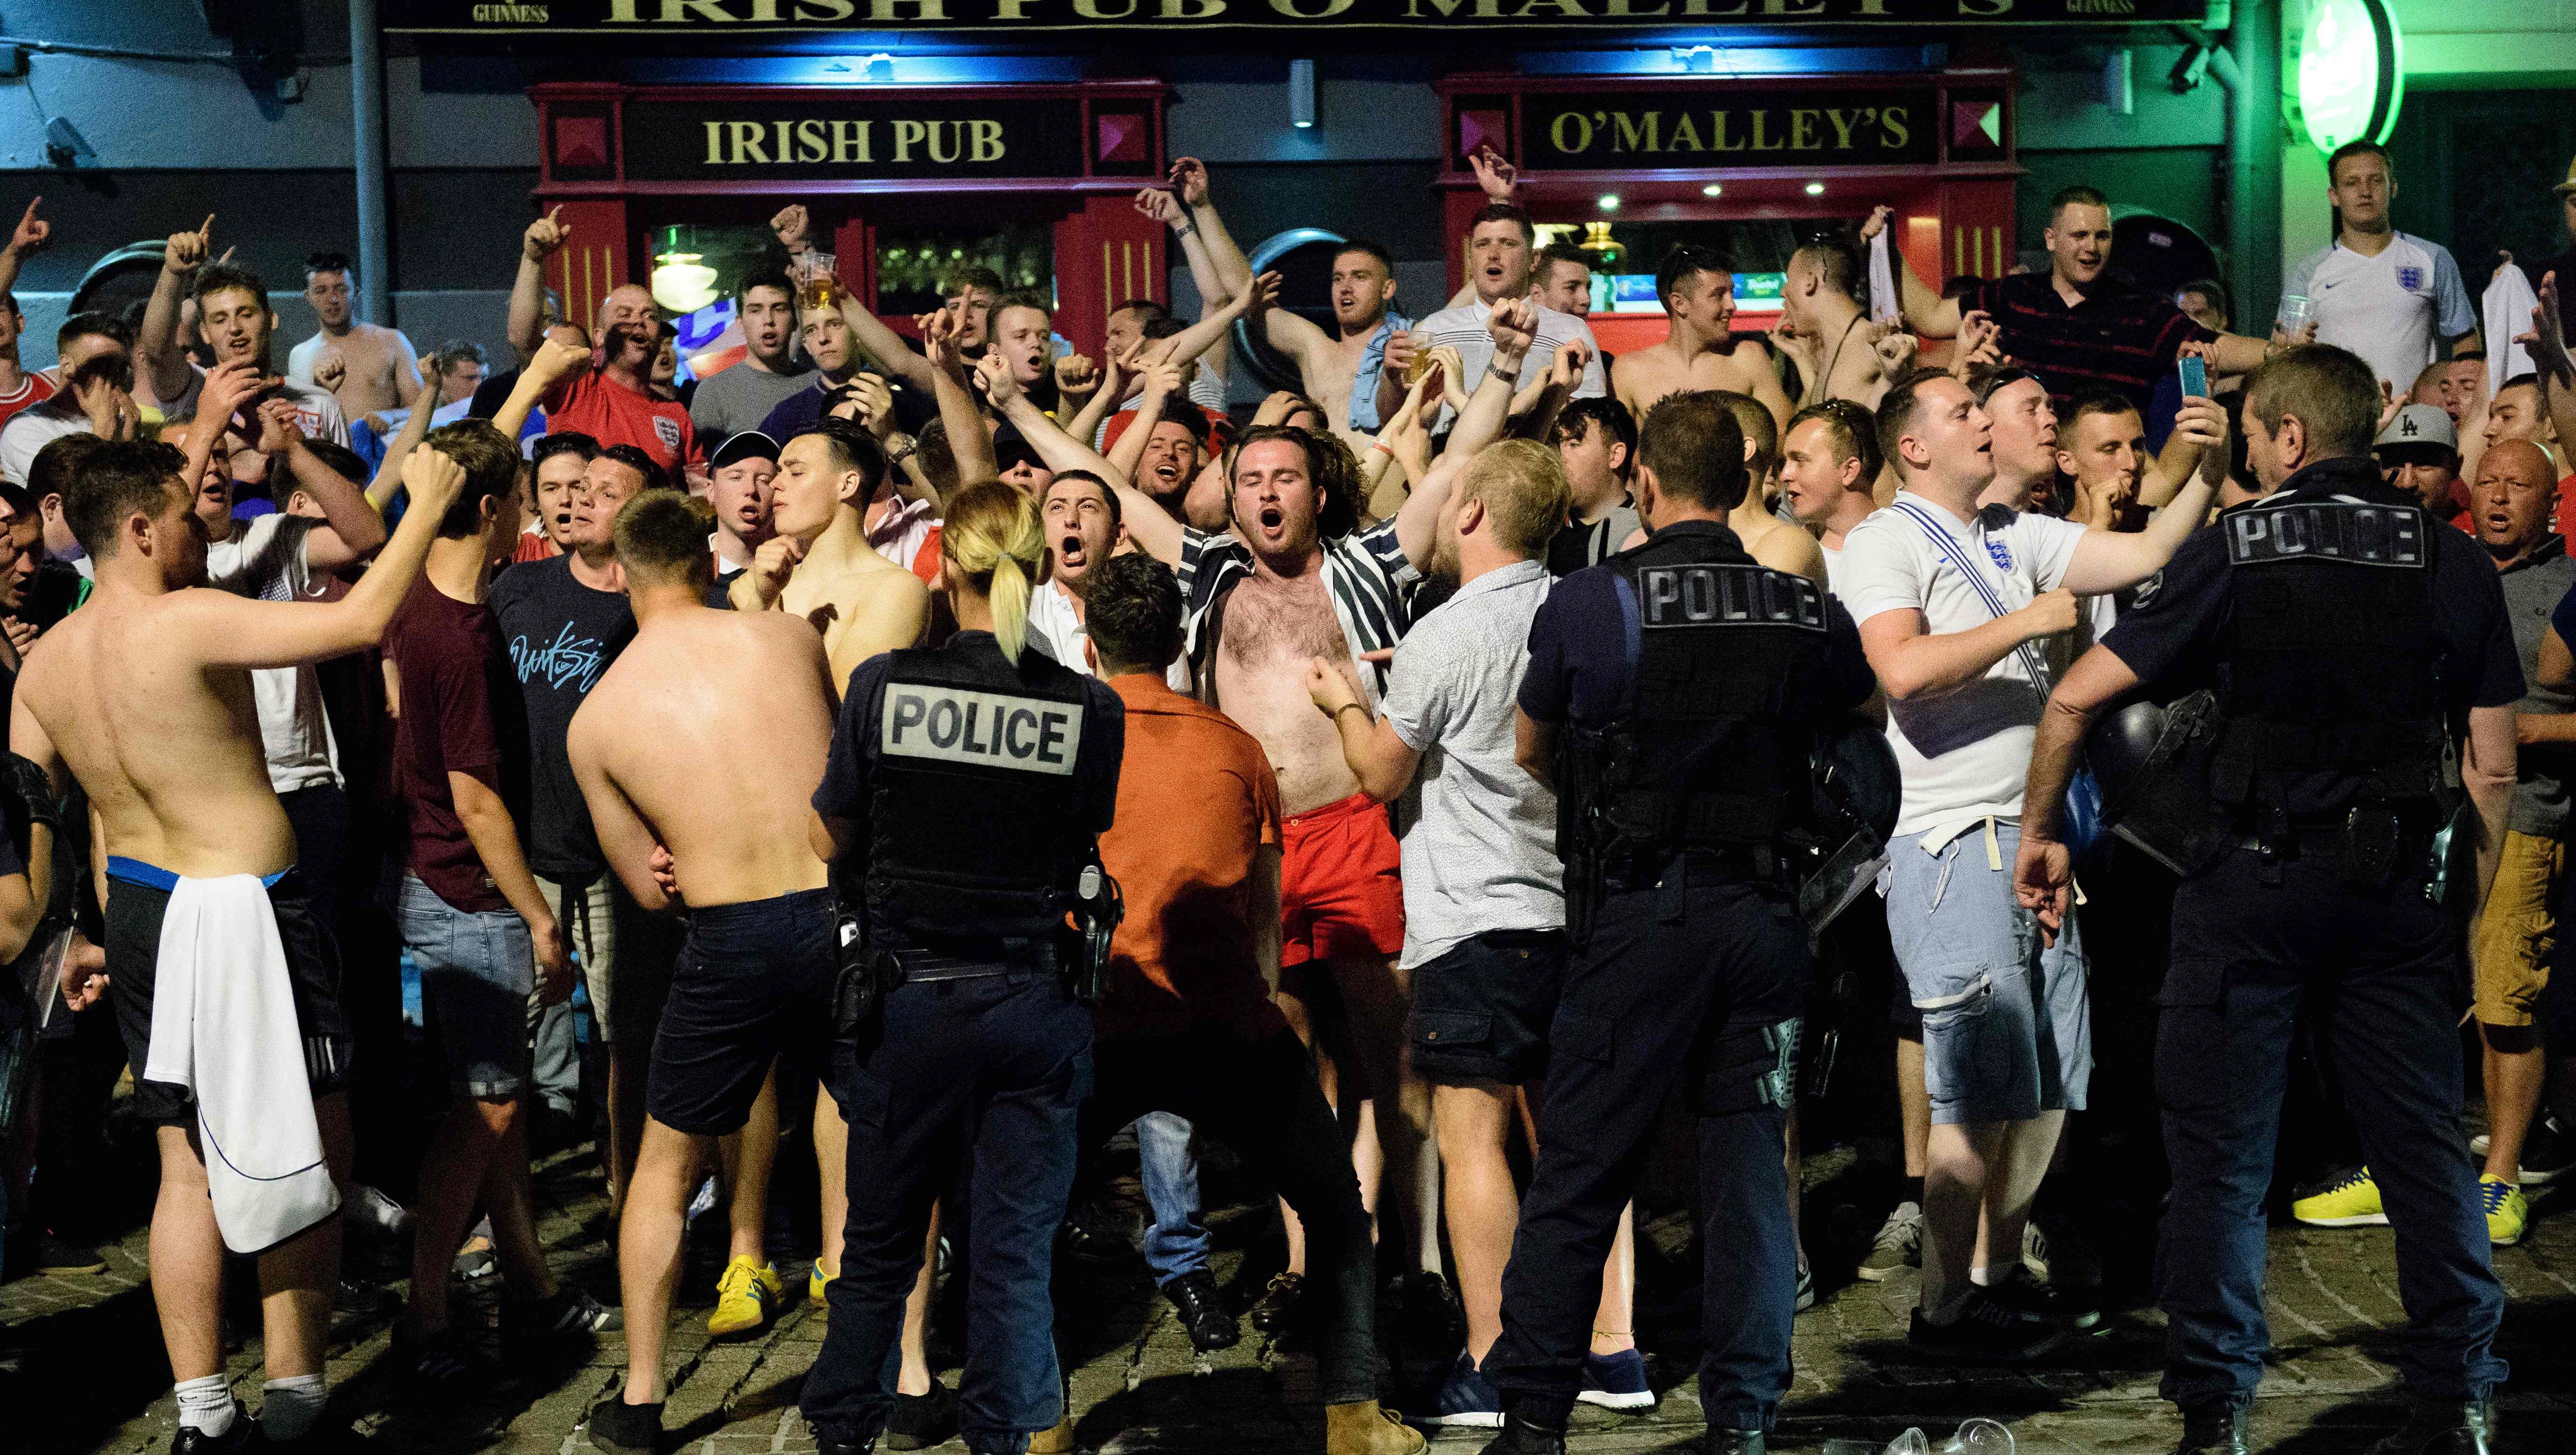
[(1577, 832), (1613, 858), (1767, 850), (1808, 816), (1824, 592), (1698, 533), (1605, 564), (1636, 592), (1636, 698), (1577, 734)]

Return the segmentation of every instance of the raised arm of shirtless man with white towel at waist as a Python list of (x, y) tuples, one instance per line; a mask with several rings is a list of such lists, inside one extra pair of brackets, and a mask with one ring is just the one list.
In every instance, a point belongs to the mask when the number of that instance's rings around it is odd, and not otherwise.
[(386, 541), (374, 569), (361, 574), (345, 597), (332, 603), (247, 600), (232, 592), (191, 590), (180, 592), (170, 608), (173, 631), (209, 667), (296, 667), (376, 646), (384, 641), (384, 626), (394, 621), (394, 608), (420, 579), (420, 564), (430, 556), (438, 520), (456, 502), (464, 482), (464, 466), (448, 456), (412, 451), (402, 469), (402, 487), (412, 492), (412, 507), (402, 515), (402, 525)]

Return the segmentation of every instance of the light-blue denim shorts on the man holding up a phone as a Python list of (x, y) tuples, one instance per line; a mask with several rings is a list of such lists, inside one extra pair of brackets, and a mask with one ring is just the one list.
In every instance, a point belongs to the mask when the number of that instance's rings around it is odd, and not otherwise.
[(1924, 1017), (1924, 1092), (1935, 1125), (2030, 1120), (2084, 1110), (2092, 1009), (2084, 940), (2069, 909), (2058, 943), (2012, 899), (2009, 819), (1976, 824), (1937, 852), (1888, 845), (1888, 943)]

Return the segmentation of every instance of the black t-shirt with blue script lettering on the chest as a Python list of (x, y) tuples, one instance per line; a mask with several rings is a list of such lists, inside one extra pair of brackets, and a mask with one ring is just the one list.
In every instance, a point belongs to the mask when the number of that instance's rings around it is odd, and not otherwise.
[(582, 698), (634, 641), (634, 608), (623, 592), (572, 579), (572, 556), (554, 556), (502, 572), (492, 582), (492, 615), (528, 718), (528, 868), (587, 881), (605, 863), (564, 744)]

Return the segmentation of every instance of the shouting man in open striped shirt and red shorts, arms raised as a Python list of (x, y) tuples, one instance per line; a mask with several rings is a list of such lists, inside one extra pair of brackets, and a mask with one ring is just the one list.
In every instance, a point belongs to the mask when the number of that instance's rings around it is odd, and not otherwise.
[[(1494, 309), (1494, 368), (1481, 373), (1458, 415), (1448, 446), (1458, 458), (1502, 433), (1512, 379), (1540, 314), (1535, 299)], [(1234, 533), (1185, 530), (1144, 492), (1113, 484), (1128, 536), (1180, 574), (1203, 695), (1262, 742), (1278, 773), (1288, 814), (1280, 963), (1301, 968), (1291, 979), (1301, 976), (1303, 997), (1342, 997), (1350, 1046), (1340, 1094), (1345, 1110), (1358, 1102), (1360, 1190), (1376, 1210), (1383, 1167), (1417, 1236), (1412, 1267), (1437, 1277), (1430, 1272), (1440, 1267), (1435, 1218), (1427, 1216), (1437, 1208), (1437, 1187), (1425, 1185), (1435, 1167), (1422, 1156), (1430, 1087), (1404, 1074), (1409, 989), (1396, 968), (1404, 950), (1399, 850), (1383, 809), (1342, 757), (1340, 731), (1314, 711), (1306, 667), (1314, 657), (1350, 662), (1352, 682), (1376, 711), (1383, 664), (1363, 652), (1386, 652), (1404, 636), (1401, 590), (1432, 559), (1448, 476), (1417, 487), (1394, 520), (1342, 536), (1324, 523), (1327, 500), (1306, 451), (1298, 430), (1244, 430), (1226, 461)], [(1296, 1020), (1301, 1015), (1291, 1012)]]

